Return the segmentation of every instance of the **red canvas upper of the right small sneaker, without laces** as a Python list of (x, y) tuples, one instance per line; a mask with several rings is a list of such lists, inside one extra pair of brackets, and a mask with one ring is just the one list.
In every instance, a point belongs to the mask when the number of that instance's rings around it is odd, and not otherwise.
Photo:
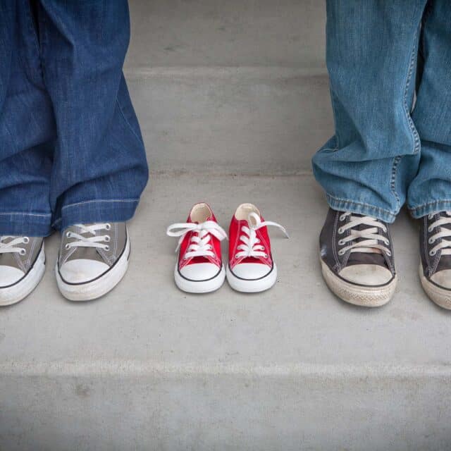
[[(263, 216), (260, 216), (261, 222), (264, 221)], [(268, 265), (269, 267), (273, 266), (273, 260), (271, 257), (271, 241), (269, 240), (268, 235), (268, 228), (261, 227), (258, 230), (256, 230), (257, 238), (259, 238), (260, 242), (259, 245), (264, 247), (264, 250), (262, 252), (266, 253), (265, 257), (239, 257), (235, 258), (236, 254), (240, 252), (240, 249), (237, 249), (237, 247), (241, 244), (243, 244), (242, 240), (240, 240), (240, 237), (242, 235), (246, 235), (245, 232), (242, 231), (242, 227), (246, 226), (248, 228), (249, 224), (247, 220), (238, 220), (235, 215), (233, 215), (232, 221), (230, 221), (230, 228), (229, 228), (229, 252), (228, 252), (228, 258), (229, 258), (229, 265), (230, 268), (233, 269), (234, 266), (240, 263), (261, 263)]]

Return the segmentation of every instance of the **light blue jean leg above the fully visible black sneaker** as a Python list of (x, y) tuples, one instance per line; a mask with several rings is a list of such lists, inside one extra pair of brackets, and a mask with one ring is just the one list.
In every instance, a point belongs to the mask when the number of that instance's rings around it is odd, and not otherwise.
[(426, 0), (328, 0), (327, 66), (335, 136), (314, 175), (333, 209), (392, 222), (418, 168), (410, 117)]

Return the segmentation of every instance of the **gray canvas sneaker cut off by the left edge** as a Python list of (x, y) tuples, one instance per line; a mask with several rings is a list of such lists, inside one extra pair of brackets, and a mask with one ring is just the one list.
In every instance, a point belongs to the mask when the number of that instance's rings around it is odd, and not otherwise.
[(42, 237), (0, 237), (0, 306), (16, 304), (34, 290), (44, 276)]

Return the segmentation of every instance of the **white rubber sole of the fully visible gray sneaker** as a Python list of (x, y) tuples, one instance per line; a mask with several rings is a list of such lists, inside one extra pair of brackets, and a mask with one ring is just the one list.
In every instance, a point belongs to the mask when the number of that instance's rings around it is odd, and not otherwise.
[(121, 257), (119, 257), (113, 266), (109, 268), (106, 273), (102, 274), (98, 278), (86, 283), (66, 283), (60, 276), (58, 271), (58, 264), (56, 264), (56, 283), (61, 294), (70, 301), (90, 301), (97, 299), (98, 297), (106, 295), (107, 292), (113, 290), (128, 268), (128, 259), (130, 257), (130, 239), (127, 235), (127, 241), (125, 242), (125, 249), (123, 250)]

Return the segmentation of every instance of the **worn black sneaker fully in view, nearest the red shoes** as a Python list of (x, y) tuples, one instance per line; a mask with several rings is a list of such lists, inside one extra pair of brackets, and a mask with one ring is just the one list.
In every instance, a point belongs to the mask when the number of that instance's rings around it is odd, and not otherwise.
[(329, 209), (320, 235), (321, 268), (330, 290), (350, 304), (386, 304), (397, 283), (387, 223)]

